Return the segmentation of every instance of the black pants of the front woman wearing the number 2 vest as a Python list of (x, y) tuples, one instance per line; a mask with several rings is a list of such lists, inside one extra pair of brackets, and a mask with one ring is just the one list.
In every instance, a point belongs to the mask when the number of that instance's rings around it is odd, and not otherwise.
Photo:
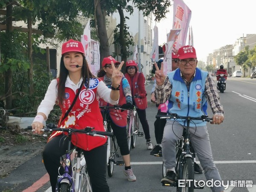
[[(52, 192), (55, 192), (55, 186), (58, 178), (58, 168), (60, 174), (64, 173), (63, 166), (60, 163), (60, 157), (65, 154), (68, 148), (68, 140), (63, 135), (52, 138), (44, 147), (43, 160), (44, 166), (50, 176)], [(74, 147), (74, 146), (72, 146)], [(109, 192), (106, 180), (106, 158), (107, 146), (102, 145), (90, 151), (83, 151), (87, 163), (88, 174), (92, 184), (93, 192)]]

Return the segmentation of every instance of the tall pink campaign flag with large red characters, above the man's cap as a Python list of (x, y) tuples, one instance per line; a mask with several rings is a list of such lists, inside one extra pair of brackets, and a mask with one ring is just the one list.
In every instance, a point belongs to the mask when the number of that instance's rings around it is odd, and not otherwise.
[(186, 45), (186, 38), (191, 19), (191, 10), (183, 0), (173, 0), (173, 25), (172, 29), (182, 29), (173, 47), (179, 49)]

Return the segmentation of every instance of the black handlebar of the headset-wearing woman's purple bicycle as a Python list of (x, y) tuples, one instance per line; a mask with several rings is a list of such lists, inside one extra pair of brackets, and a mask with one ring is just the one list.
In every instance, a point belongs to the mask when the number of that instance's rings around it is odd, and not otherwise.
[[(105, 131), (94, 131), (92, 127), (86, 127), (84, 129), (73, 129), (73, 128), (60, 128), (57, 125), (47, 125), (47, 128), (41, 129), (42, 132), (52, 132), (52, 131), (64, 131), (64, 132), (68, 132), (69, 134), (72, 133), (82, 133), (82, 134), (87, 134), (90, 136), (98, 136), (98, 137), (104, 137), (104, 136), (113, 136), (112, 132), (105, 132)], [(32, 126), (28, 126), (26, 128), (27, 130), (32, 130)], [(104, 137), (105, 138), (105, 137)]]

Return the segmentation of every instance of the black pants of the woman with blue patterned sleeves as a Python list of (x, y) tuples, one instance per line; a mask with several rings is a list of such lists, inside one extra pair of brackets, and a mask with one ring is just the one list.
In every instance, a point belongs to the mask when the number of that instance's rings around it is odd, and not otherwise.
[(116, 142), (120, 148), (121, 155), (130, 154), (127, 142), (126, 127), (119, 127), (111, 121), (111, 128), (116, 137)]

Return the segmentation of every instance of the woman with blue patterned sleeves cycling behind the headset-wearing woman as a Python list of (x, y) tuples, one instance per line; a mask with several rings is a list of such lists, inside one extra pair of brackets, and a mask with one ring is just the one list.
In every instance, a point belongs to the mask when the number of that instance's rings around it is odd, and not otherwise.
[[(115, 67), (118, 68), (120, 62), (116, 61), (113, 57), (108, 56), (102, 61), (102, 69), (98, 73), (99, 79), (101, 79), (110, 89), (112, 89), (112, 73), (113, 65), (111, 61), (115, 64)], [(119, 84), (119, 105), (122, 105), (125, 109), (132, 109), (132, 99), (131, 99), (131, 88), (125, 77), (122, 78), (121, 83)], [(108, 102), (104, 102), (102, 99), (99, 100), (100, 106), (110, 105)], [(133, 174), (130, 164), (130, 151), (128, 148), (127, 134), (126, 134), (126, 125), (127, 125), (127, 111), (121, 111), (119, 109), (109, 109), (109, 118), (111, 120), (111, 128), (116, 137), (117, 144), (120, 148), (120, 153), (125, 162), (124, 174), (127, 176), (129, 181), (136, 181), (136, 177)]]

